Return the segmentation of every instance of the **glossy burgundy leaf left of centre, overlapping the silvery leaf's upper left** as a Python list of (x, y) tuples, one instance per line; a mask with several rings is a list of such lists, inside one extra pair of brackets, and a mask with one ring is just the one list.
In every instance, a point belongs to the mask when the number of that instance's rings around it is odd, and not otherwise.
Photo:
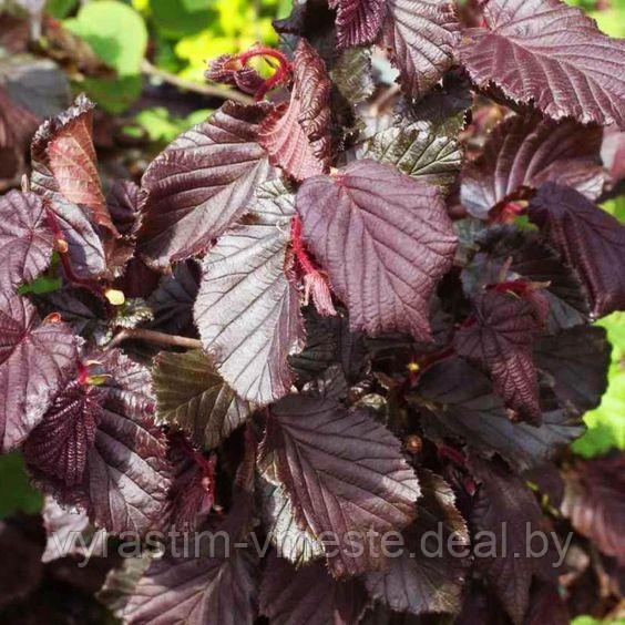
[(243, 216), (255, 187), (276, 175), (257, 143), (270, 110), (226, 102), (152, 162), (142, 181), (140, 232), (151, 265), (166, 268), (204, 252)]

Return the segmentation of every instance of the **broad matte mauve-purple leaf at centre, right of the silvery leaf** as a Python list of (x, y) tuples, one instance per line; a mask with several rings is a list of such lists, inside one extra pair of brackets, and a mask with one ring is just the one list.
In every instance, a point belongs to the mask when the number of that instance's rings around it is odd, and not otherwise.
[(429, 306), (450, 268), (455, 237), (437, 187), (357, 161), (297, 194), (304, 238), (329, 271), (352, 330), (430, 339)]

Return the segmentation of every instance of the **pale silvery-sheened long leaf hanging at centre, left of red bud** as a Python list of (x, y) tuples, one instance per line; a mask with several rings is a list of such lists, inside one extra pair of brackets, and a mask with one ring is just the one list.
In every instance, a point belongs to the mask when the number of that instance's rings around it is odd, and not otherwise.
[(236, 393), (256, 403), (285, 396), (287, 357), (300, 349), (298, 294), (287, 279), (293, 196), (267, 183), (250, 206), (250, 225), (223, 236), (203, 264), (195, 321), (204, 347)]

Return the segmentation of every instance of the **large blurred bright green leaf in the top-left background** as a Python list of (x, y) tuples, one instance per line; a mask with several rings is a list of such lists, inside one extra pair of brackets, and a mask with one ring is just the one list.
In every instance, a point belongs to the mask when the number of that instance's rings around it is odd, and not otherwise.
[(121, 76), (140, 72), (147, 47), (147, 29), (141, 16), (127, 4), (100, 0), (84, 4), (64, 27), (84, 39)]

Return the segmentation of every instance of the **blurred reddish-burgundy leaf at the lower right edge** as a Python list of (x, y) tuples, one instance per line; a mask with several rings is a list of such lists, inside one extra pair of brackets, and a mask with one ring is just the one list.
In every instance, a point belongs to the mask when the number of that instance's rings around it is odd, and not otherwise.
[(606, 555), (625, 564), (625, 455), (577, 459), (565, 473), (562, 512)]

